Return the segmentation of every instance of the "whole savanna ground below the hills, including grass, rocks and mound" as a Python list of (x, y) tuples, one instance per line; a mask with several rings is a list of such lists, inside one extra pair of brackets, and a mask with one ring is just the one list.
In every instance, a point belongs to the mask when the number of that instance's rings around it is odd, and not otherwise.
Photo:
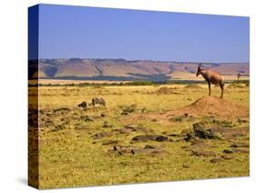
[(225, 86), (40, 86), (39, 188), (249, 176), (249, 86)]

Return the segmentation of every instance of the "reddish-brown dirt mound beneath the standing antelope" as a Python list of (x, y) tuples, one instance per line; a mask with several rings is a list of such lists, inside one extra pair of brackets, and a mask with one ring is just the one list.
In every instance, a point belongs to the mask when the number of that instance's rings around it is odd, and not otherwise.
[(217, 96), (202, 96), (187, 107), (169, 111), (168, 115), (184, 115), (194, 117), (249, 117), (249, 109), (241, 105), (226, 101)]

